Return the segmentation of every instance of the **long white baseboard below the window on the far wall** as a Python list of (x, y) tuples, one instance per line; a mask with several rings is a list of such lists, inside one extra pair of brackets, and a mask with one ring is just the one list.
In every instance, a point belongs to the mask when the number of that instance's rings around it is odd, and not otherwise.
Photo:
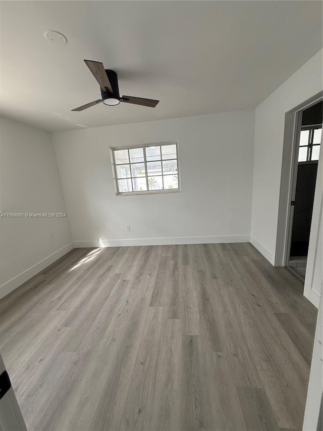
[(249, 243), (250, 235), (178, 236), (169, 238), (135, 238), (131, 240), (74, 241), (74, 247), (169, 246), (177, 244)]

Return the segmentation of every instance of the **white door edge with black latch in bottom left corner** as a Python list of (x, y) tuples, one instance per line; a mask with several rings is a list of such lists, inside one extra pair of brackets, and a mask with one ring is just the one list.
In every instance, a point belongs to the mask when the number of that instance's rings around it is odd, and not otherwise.
[(0, 431), (27, 431), (6, 366), (0, 354)]

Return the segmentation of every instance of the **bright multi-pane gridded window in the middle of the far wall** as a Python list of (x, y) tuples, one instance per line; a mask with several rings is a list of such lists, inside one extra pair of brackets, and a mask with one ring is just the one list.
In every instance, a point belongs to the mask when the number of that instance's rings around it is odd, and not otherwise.
[(118, 195), (180, 190), (176, 141), (111, 150)]

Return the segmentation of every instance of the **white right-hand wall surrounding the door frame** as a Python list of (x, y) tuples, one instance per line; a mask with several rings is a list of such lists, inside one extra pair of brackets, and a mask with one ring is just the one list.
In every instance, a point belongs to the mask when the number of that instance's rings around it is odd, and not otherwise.
[(255, 110), (251, 242), (275, 262), (285, 113), (323, 88), (322, 50)]

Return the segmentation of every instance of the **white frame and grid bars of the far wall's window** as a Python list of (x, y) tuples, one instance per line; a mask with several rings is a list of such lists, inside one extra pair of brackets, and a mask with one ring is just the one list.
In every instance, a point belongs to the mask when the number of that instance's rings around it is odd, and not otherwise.
[[(148, 187), (148, 172), (147, 172), (147, 160), (146, 160), (146, 152), (143, 152), (143, 157), (144, 157), (144, 164), (145, 164), (145, 177), (142, 178), (146, 178), (146, 182), (147, 182), (147, 190), (141, 190), (141, 191), (119, 191), (119, 186), (118, 186), (118, 179), (122, 179), (122, 178), (118, 178), (117, 175), (117, 165), (116, 164), (116, 159), (115, 159), (115, 151), (118, 150), (128, 150), (128, 157), (129, 157), (129, 165), (131, 166), (130, 163), (130, 155), (129, 155), (129, 150), (135, 149), (135, 148), (148, 148), (148, 147), (163, 147), (163, 146), (167, 146), (167, 145), (176, 145), (176, 161), (177, 161), (177, 173), (174, 175), (177, 175), (177, 179), (178, 179), (178, 188), (169, 188), (169, 189), (154, 189), (154, 190), (149, 190)], [(126, 147), (110, 147), (110, 153), (111, 153), (111, 164), (112, 164), (112, 171), (113, 171), (113, 176), (114, 176), (114, 183), (115, 183), (115, 191), (116, 191), (116, 196), (134, 196), (134, 195), (152, 195), (152, 194), (160, 194), (160, 193), (178, 193), (181, 190), (181, 179), (180, 179), (180, 161), (179, 161), (179, 145), (178, 145), (178, 140), (172, 140), (172, 141), (164, 141), (164, 142), (150, 142), (150, 143), (143, 143), (141, 145), (131, 145), (131, 146), (126, 146)], [(167, 160), (175, 160), (175, 159), (167, 159)], [(163, 180), (163, 186), (164, 186), (164, 176), (167, 176), (167, 174), (165, 175), (163, 173), (163, 159), (161, 158), (161, 148), (160, 148), (160, 161), (161, 161), (161, 174), (157, 175), (157, 176), (161, 176), (162, 180)], [(128, 163), (125, 163), (126, 165), (128, 165)], [(122, 166), (122, 165), (121, 165)], [(131, 169), (131, 168), (130, 168)], [(132, 179), (132, 178), (131, 178)]]

